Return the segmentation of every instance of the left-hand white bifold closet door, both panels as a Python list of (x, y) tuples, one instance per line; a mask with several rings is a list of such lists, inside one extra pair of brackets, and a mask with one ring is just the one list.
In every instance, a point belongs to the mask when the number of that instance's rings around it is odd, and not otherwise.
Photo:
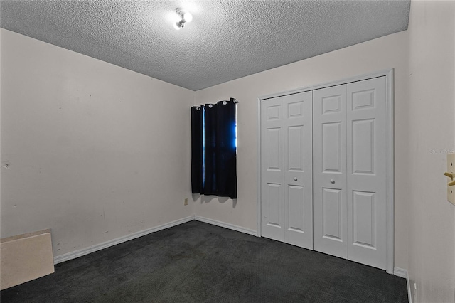
[(262, 236), (313, 248), (312, 93), (262, 100)]

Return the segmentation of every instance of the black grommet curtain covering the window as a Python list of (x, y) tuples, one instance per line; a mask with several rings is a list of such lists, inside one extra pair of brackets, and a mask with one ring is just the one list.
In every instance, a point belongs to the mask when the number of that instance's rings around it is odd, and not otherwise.
[(235, 102), (191, 107), (193, 193), (237, 198)]

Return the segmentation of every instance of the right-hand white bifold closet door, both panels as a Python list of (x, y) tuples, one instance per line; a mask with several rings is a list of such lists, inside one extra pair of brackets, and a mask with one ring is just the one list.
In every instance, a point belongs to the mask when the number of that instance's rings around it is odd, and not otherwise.
[(385, 77), (314, 90), (314, 250), (386, 269)]

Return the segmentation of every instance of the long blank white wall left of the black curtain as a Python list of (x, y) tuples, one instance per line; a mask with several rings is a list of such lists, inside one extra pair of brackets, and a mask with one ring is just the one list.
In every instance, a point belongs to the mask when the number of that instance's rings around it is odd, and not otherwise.
[(193, 95), (1, 29), (1, 237), (58, 256), (193, 215)]

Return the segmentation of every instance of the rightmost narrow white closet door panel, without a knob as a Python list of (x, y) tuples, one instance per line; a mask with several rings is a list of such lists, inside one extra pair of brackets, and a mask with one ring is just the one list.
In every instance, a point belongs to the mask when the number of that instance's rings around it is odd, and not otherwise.
[(348, 259), (386, 269), (385, 77), (347, 85)]

